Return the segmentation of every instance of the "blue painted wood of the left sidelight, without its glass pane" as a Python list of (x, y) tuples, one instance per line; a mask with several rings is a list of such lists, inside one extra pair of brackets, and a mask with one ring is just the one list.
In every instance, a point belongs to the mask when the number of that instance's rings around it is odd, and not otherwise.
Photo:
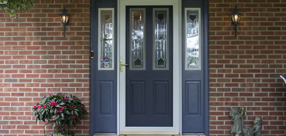
[(117, 131), (117, 29), (114, 29), (114, 70), (98, 70), (98, 8), (114, 8), (114, 26), (117, 26), (117, 1), (91, 1), (91, 126), (94, 133), (116, 133)]

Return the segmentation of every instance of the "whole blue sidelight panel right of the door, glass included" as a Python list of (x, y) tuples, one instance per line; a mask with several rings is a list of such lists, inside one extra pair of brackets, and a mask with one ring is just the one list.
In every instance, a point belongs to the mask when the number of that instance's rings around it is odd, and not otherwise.
[[(182, 132), (205, 132), (203, 1), (182, 1)], [(196, 123), (194, 123), (196, 122)]]

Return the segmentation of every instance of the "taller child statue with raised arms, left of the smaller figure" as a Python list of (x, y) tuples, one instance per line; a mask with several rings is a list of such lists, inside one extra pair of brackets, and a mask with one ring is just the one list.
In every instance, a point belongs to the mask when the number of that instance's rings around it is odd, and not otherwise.
[(234, 134), (235, 136), (243, 136), (243, 131), (242, 131), (242, 118), (243, 118), (243, 113), (244, 113), (244, 108), (241, 107), (241, 112), (237, 109), (237, 107), (233, 107), (231, 109), (231, 112), (229, 115), (234, 121), (234, 124), (231, 129), (231, 134)]

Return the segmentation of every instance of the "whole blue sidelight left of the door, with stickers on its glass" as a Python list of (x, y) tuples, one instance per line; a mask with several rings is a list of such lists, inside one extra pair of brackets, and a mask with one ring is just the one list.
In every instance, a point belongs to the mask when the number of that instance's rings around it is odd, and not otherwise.
[[(117, 131), (117, 3), (116, 1), (93, 1), (95, 14), (91, 31), (91, 135), (94, 133), (116, 133)], [(108, 29), (105, 29), (107, 25)], [(113, 27), (112, 27), (113, 26)], [(100, 35), (108, 32), (106, 35)], [(103, 41), (107, 41), (106, 43)], [(104, 42), (104, 43), (103, 43)], [(111, 46), (112, 45), (112, 46)], [(102, 46), (109, 46), (109, 49)], [(110, 60), (108, 68), (103, 66), (102, 56)]]

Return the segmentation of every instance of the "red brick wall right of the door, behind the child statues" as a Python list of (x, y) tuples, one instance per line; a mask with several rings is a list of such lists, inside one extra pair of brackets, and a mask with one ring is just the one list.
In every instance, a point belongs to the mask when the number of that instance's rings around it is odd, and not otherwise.
[[(230, 13), (242, 13), (237, 37)], [(262, 116), (264, 136), (286, 129), (286, 0), (209, 0), (210, 134), (229, 135), (231, 107), (246, 124)]]

